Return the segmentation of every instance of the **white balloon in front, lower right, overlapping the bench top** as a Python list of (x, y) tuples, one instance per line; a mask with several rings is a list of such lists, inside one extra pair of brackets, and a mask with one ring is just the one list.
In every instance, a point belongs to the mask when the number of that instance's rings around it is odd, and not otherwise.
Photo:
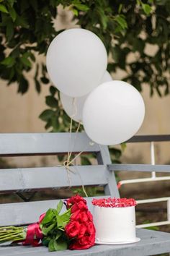
[(117, 80), (95, 88), (83, 109), (86, 134), (102, 145), (117, 145), (133, 137), (144, 116), (145, 105), (138, 90)]

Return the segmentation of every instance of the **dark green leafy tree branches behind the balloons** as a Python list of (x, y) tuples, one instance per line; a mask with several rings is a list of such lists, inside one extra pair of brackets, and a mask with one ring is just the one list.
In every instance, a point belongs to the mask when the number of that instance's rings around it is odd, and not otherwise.
[[(138, 90), (147, 83), (151, 95), (154, 91), (160, 96), (169, 93), (169, 0), (0, 0), (0, 77), (8, 85), (17, 82), (18, 93), (26, 93), (27, 72), (33, 64), (37, 93), (42, 84), (49, 83), (45, 64), (37, 63), (36, 56), (45, 55), (50, 41), (61, 32), (53, 26), (59, 4), (72, 10), (77, 24), (102, 39), (112, 56), (109, 72), (122, 69), (125, 81)], [(146, 52), (148, 43), (157, 47), (154, 56)], [(130, 53), (135, 54), (131, 62)], [(53, 85), (45, 101), (48, 108), (40, 114), (45, 128), (68, 130), (70, 119), (64, 114)]]

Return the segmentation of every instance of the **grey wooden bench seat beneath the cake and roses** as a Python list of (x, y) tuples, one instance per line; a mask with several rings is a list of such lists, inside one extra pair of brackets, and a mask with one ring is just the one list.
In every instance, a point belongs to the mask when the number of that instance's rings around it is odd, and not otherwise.
[(137, 236), (140, 242), (134, 244), (120, 245), (95, 245), (90, 249), (64, 250), (60, 252), (48, 252), (47, 247), (30, 246), (1, 246), (1, 256), (143, 256), (158, 255), (167, 252), (170, 248), (170, 236), (168, 233), (151, 231), (147, 229), (137, 229)]

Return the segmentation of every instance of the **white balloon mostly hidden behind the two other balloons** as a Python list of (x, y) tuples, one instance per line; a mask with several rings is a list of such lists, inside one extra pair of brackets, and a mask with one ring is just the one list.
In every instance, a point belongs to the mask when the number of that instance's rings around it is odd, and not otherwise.
[[(106, 71), (104, 73), (104, 76), (102, 77), (101, 83), (111, 81), (111, 80), (112, 80), (111, 75), (109, 74), (108, 71)], [(73, 98), (63, 93), (60, 93), (63, 109), (66, 111), (66, 114), (68, 114), (68, 116), (70, 116), (74, 121), (78, 121), (82, 123), (82, 112), (83, 112), (84, 102), (86, 101), (86, 98), (88, 97), (88, 95), (89, 93), (87, 95), (84, 95), (83, 97)]]

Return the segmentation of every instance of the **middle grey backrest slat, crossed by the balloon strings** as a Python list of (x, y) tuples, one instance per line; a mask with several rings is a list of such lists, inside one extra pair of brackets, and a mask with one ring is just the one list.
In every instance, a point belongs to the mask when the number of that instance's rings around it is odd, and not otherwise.
[(76, 187), (107, 184), (105, 166), (71, 166), (0, 169), (0, 191)]

